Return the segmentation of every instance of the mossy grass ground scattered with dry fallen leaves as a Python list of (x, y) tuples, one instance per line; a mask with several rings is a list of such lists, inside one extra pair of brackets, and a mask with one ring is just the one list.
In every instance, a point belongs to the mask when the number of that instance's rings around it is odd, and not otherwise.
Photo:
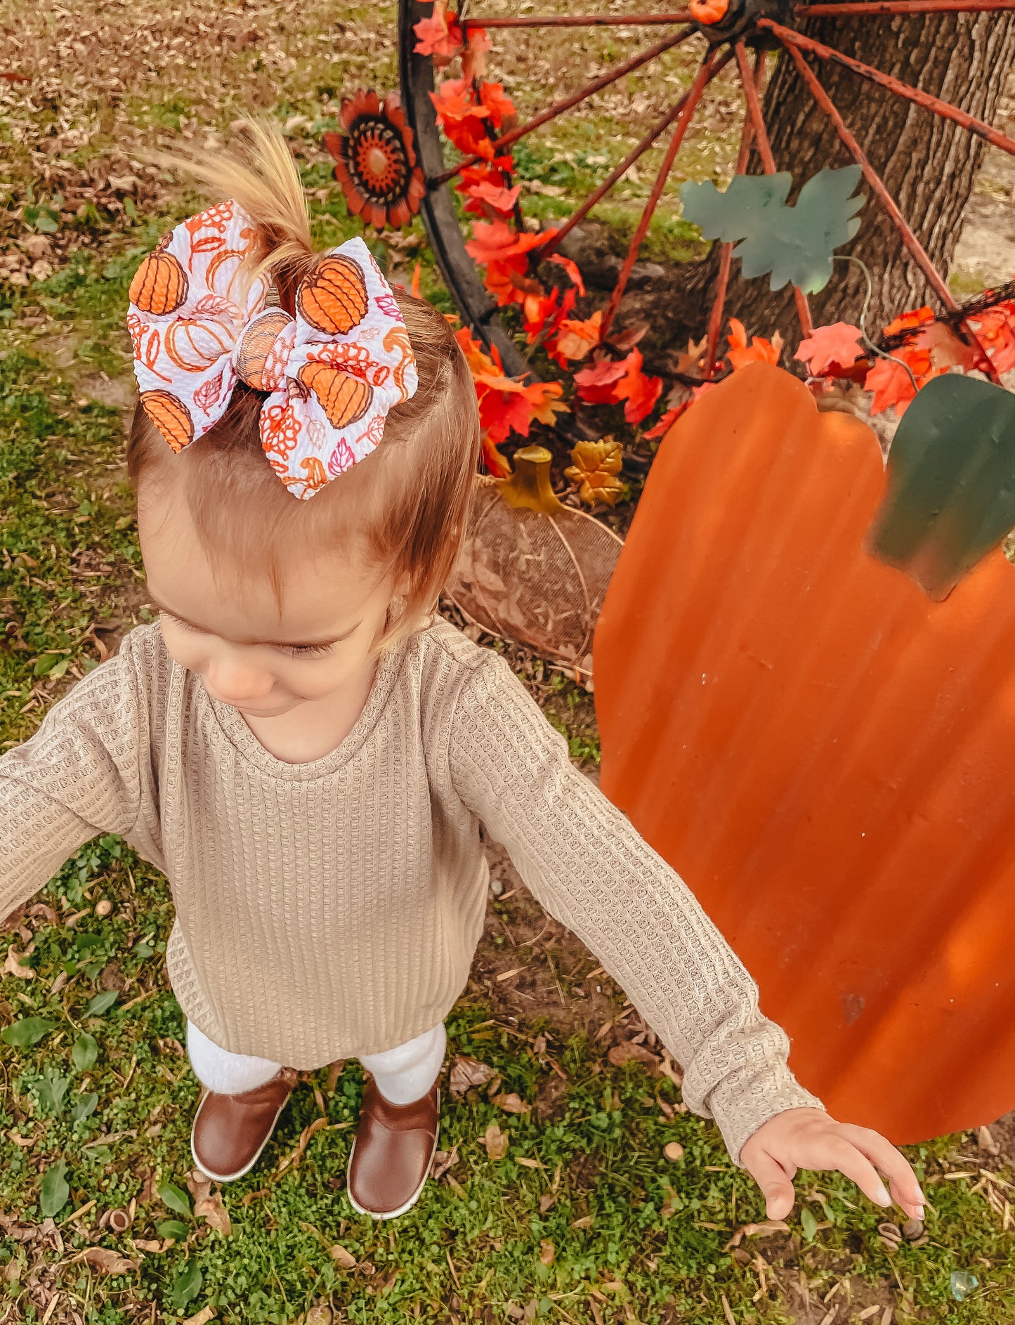
[[(122, 469), (126, 288), (193, 199), (140, 151), (176, 135), (223, 135), (236, 115), (268, 111), (301, 154), (318, 237), (358, 232), (317, 139), (334, 127), (343, 90), (394, 86), (394, 7), (341, 9), (337, 21), (319, 0), (175, 8), (94, 0), (74, 13), (0, 3), (5, 60), (30, 73), (30, 82), (0, 93), (0, 258), (19, 276), (0, 282), (4, 749), (144, 617)], [(599, 58), (598, 48), (582, 49)], [(681, 80), (678, 62), (668, 77)], [(625, 94), (639, 90), (632, 82)], [(651, 113), (651, 105), (639, 111)], [(720, 121), (725, 142), (729, 125)], [(603, 126), (592, 127), (602, 139)], [(640, 122), (624, 126), (628, 138), (643, 131)], [(590, 178), (608, 170), (620, 139), (599, 154), (604, 160), (591, 160), (582, 135), (588, 130), (530, 154), (527, 176), (553, 187), (562, 168)], [(712, 168), (705, 163), (702, 174)], [(568, 175), (563, 186), (571, 184)], [(664, 207), (657, 252), (688, 238)], [(378, 254), (403, 280), (419, 260), (424, 293), (451, 311), (419, 227)], [(522, 661), (575, 757), (594, 763), (587, 701)], [(623, 994), (587, 954), (553, 930), (541, 939), (533, 904), (509, 894), (490, 908), (481, 974), (449, 1032), (456, 1053), (493, 1068), (501, 1093), (529, 1110), (506, 1113), (488, 1090), (449, 1096), (440, 1181), (404, 1219), (375, 1226), (343, 1194), (360, 1072), (322, 1071), (297, 1089), (254, 1173), (195, 1216), (187, 1175), (197, 1086), (164, 973), (168, 890), (117, 839), (85, 847), (0, 935), (0, 1023), (20, 1026), (21, 1041), (0, 1044), (0, 1320), (289, 1322), (334, 1313), (441, 1325), (996, 1325), (1015, 1317), (1004, 1206), (1012, 1175), (1003, 1154), (977, 1150), (974, 1138), (910, 1151), (933, 1202), (924, 1246), (888, 1251), (880, 1214), (847, 1183), (814, 1175), (802, 1175), (784, 1231), (730, 1246), (763, 1218), (750, 1181), (714, 1128), (681, 1112), (668, 1077), (611, 1064), (608, 1047), (651, 1045), (651, 1032), (632, 1023)], [(525, 943), (531, 955), (519, 958), (515, 945)], [(519, 961), (527, 984), (511, 975)], [(596, 999), (607, 1008), (603, 1034), (590, 1020)], [(504, 1145), (492, 1126), (506, 1136), (502, 1158), (492, 1158)], [(664, 1155), (673, 1141), (682, 1146), (676, 1162)], [(122, 1234), (109, 1226), (113, 1210), (131, 1216)], [(953, 1272), (978, 1280), (961, 1304)]]

